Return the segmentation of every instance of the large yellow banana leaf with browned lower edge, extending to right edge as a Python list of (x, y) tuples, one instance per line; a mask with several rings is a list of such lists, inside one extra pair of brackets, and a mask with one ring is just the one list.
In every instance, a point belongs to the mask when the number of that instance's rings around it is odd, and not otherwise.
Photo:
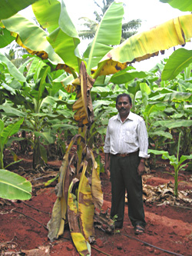
[(92, 70), (94, 78), (118, 72), (127, 64), (141, 62), (175, 45), (184, 45), (192, 38), (191, 23), (192, 15), (184, 15), (127, 38), (101, 59), (98, 68)]

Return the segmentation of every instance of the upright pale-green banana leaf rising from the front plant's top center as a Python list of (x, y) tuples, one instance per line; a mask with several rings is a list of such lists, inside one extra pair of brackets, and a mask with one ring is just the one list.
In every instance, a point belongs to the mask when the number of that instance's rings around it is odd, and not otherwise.
[(113, 2), (105, 12), (94, 35), (94, 40), (91, 42), (91, 49), (84, 53), (85, 59), (88, 58), (87, 71), (89, 75), (91, 74), (91, 68), (98, 65), (101, 58), (111, 50), (112, 46), (110, 45), (120, 43), (123, 15), (122, 3)]

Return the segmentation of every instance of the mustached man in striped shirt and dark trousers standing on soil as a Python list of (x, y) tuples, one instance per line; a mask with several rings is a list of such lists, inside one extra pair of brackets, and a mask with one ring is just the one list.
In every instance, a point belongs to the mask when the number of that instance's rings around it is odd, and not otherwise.
[[(104, 141), (105, 172), (111, 178), (111, 218), (117, 215), (115, 228), (122, 228), (127, 190), (128, 216), (135, 234), (142, 234), (144, 220), (142, 178), (148, 137), (143, 118), (130, 111), (131, 96), (118, 95), (118, 115), (110, 118)], [(110, 171), (109, 171), (110, 170)]]

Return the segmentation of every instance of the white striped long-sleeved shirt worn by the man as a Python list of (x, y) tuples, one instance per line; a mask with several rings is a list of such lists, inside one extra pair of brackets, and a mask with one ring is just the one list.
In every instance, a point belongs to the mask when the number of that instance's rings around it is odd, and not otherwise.
[(148, 136), (143, 118), (130, 111), (124, 122), (119, 114), (109, 119), (104, 153), (116, 155), (139, 150), (139, 157), (149, 158), (147, 149)]

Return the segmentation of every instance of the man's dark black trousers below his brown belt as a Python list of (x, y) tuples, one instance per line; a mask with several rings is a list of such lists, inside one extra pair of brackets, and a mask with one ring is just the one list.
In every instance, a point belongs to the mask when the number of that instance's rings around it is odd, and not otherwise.
[(143, 188), (141, 175), (137, 174), (140, 158), (129, 155), (124, 158), (111, 155), (111, 218), (117, 215), (115, 225), (118, 228), (124, 222), (124, 199), (127, 190), (128, 216), (133, 226), (146, 225), (144, 220)]

